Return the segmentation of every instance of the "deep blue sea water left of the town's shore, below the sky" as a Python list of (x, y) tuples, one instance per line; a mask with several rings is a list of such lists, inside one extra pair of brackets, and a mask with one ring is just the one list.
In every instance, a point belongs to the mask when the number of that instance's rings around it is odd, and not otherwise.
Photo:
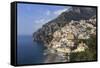
[(17, 37), (17, 63), (39, 64), (43, 63), (44, 46), (41, 42), (33, 41), (32, 36)]

